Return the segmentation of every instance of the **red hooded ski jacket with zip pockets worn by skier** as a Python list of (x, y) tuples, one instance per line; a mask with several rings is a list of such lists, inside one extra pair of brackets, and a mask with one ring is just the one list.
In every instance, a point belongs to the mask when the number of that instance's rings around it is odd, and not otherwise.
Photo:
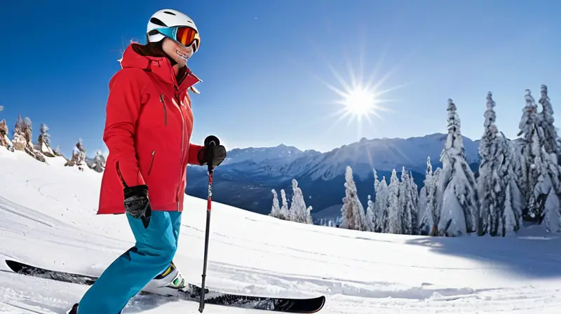
[(97, 214), (123, 214), (123, 184), (147, 184), (152, 210), (182, 211), (187, 164), (199, 165), (191, 144), (187, 90), (200, 80), (187, 69), (177, 82), (166, 57), (126, 49), (109, 82), (103, 140), (109, 149)]

